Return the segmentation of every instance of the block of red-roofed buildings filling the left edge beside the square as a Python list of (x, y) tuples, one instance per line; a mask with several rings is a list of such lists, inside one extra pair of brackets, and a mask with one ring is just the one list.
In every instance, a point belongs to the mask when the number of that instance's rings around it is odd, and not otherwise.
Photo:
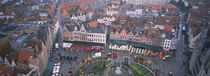
[(1, 76), (41, 76), (46, 69), (59, 26), (53, 6), (43, 8), (37, 2), (8, 0), (1, 4)]

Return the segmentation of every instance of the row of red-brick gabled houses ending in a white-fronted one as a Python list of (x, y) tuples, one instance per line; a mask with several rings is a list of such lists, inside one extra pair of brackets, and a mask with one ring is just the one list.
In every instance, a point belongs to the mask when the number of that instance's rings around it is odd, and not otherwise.
[[(160, 32), (160, 28), (147, 28), (146, 30), (142, 30), (141, 32), (135, 30), (127, 32), (126, 28), (122, 28), (120, 31), (111, 31), (109, 39), (111, 40), (125, 40), (125, 41), (134, 41), (138, 43), (144, 43), (147, 45), (154, 45), (163, 47), (165, 51), (176, 50), (177, 40), (172, 39), (172, 36), (167, 32)], [(164, 31), (164, 29), (162, 29)], [(161, 34), (160, 34), (161, 33)]]

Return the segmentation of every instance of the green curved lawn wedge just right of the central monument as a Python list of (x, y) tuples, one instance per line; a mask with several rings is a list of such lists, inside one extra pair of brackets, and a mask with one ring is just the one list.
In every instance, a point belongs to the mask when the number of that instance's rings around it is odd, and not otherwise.
[(152, 73), (150, 73), (146, 68), (141, 67), (136, 64), (130, 64), (130, 68), (134, 72), (134, 76), (152, 76)]

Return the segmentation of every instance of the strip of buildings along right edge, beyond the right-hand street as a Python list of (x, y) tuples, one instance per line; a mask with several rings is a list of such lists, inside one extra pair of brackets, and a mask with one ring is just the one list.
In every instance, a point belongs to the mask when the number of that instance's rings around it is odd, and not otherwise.
[[(189, 1), (189, 0), (188, 0)], [(189, 1), (192, 8), (189, 9), (186, 18), (186, 41), (188, 43), (187, 69), (191, 76), (210, 75), (210, 6), (208, 0)]]

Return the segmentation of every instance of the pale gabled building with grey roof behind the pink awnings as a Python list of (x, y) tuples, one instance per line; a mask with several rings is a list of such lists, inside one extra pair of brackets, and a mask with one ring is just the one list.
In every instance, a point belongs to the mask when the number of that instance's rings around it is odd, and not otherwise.
[(66, 25), (63, 38), (67, 41), (84, 41), (106, 44), (106, 28), (90, 27), (88, 25)]

